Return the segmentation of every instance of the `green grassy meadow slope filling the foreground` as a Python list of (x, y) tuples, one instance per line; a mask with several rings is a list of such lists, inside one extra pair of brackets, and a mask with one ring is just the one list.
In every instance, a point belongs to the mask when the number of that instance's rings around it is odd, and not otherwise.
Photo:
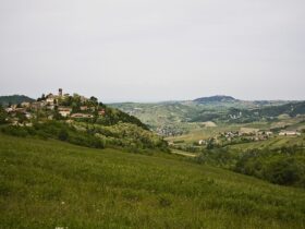
[(0, 135), (0, 228), (305, 228), (305, 192), (180, 156)]

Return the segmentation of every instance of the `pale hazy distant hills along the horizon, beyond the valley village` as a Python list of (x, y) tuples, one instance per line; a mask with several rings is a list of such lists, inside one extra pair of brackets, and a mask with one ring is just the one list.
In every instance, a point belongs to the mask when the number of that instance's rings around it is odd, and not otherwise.
[[(137, 117), (152, 131), (164, 136), (199, 130), (203, 122), (251, 123), (274, 118), (282, 113), (304, 114), (303, 101), (241, 100), (232, 96), (210, 96), (194, 100), (152, 104), (111, 104)], [(292, 110), (293, 109), (293, 110)]]

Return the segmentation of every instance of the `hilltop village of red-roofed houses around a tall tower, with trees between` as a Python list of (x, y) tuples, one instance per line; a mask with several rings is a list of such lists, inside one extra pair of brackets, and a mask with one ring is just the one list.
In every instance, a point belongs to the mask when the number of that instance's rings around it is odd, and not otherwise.
[(96, 97), (86, 98), (77, 94), (42, 94), (36, 101), (24, 101), (9, 105), (4, 108), (8, 113), (7, 122), (13, 125), (32, 125), (30, 120), (45, 118), (48, 120), (65, 119), (68, 122), (75, 119), (90, 120), (106, 116), (106, 106), (98, 103)]

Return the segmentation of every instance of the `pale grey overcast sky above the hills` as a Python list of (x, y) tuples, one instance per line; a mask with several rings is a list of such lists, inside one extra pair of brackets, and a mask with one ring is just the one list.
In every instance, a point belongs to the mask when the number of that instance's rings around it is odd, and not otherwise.
[(0, 0), (0, 95), (305, 99), (304, 0)]

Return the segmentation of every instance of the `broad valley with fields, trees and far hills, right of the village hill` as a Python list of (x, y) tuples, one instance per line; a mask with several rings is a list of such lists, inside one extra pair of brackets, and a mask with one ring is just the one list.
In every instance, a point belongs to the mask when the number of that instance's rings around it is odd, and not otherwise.
[(173, 154), (282, 185), (305, 186), (305, 103), (190, 101), (111, 105), (163, 136)]

